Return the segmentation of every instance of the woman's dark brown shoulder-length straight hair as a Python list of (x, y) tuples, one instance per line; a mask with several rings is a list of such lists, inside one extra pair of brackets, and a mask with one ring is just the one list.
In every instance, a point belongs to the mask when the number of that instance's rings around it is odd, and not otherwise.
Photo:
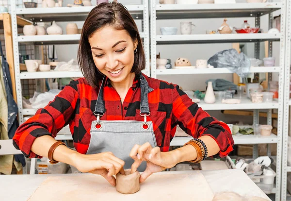
[(139, 74), (146, 67), (141, 37), (129, 11), (121, 3), (100, 3), (92, 9), (84, 22), (78, 50), (79, 66), (84, 77), (92, 86), (97, 86), (98, 80), (102, 79), (104, 75), (95, 66), (88, 38), (106, 25), (112, 25), (117, 30), (126, 30), (133, 41), (137, 40), (137, 52), (134, 53), (131, 72)]

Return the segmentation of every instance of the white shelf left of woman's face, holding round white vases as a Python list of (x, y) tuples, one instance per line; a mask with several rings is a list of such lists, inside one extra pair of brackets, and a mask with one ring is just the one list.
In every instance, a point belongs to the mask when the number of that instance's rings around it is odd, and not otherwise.
[[(145, 33), (140, 33), (141, 38)], [(62, 34), (62, 35), (20, 35), (18, 42), (20, 44), (34, 45), (60, 45), (60, 44), (78, 44), (81, 34)]]

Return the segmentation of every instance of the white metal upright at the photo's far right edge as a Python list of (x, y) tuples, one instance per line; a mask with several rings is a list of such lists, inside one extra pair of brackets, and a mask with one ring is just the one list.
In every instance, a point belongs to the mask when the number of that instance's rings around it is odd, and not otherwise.
[(291, 67), (291, 0), (286, 0), (286, 30), (285, 30), (285, 77), (284, 77), (284, 117), (283, 117), (283, 137), (282, 137), (282, 176), (281, 176), (281, 200), (287, 200), (287, 172), (291, 172), (288, 166), (288, 136), (289, 136), (289, 106), (290, 100), (290, 67)]

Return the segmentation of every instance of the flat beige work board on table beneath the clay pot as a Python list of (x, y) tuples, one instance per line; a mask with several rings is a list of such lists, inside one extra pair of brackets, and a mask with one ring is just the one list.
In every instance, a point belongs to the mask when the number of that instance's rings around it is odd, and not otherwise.
[(28, 201), (212, 201), (213, 193), (204, 176), (197, 171), (187, 174), (153, 174), (140, 185), (137, 193), (124, 195), (103, 177), (94, 174), (48, 176)]

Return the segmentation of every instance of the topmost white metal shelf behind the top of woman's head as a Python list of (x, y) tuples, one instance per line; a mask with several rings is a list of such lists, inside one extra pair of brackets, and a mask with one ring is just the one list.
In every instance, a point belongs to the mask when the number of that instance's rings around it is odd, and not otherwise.
[[(143, 19), (144, 5), (125, 5), (134, 19)], [(35, 22), (83, 21), (95, 6), (17, 8), (16, 15)]]

